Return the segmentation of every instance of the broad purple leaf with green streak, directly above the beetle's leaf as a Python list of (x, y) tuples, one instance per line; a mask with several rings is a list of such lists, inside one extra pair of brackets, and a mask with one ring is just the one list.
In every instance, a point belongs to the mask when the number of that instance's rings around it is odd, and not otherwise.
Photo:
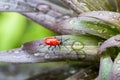
[[(91, 12), (88, 14), (99, 14), (100, 11), (98, 12)], [(103, 13), (103, 12), (101, 12)], [(108, 16), (108, 12), (105, 12), (106, 16)], [(84, 15), (84, 14), (83, 14)], [(99, 14), (100, 15), (100, 14)], [(104, 16), (105, 16), (104, 15)], [(114, 15), (103, 17), (103, 18), (98, 18), (98, 17), (91, 17), (91, 16), (81, 16), (80, 17), (75, 17), (75, 18), (69, 18), (66, 20), (63, 20), (59, 22), (57, 25), (55, 25), (55, 29), (57, 32), (62, 33), (62, 34), (92, 34), (95, 36), (99, 36), (105, 39), (108, 39), (114, 35), (117, 35), (120, 33), (120, 30), (118, 29), (119, 22), (116, 20), (116, 25), (115, 23), (112, 24), (112, 19)], [(117, 17), (120, 15), (118, 14)]]

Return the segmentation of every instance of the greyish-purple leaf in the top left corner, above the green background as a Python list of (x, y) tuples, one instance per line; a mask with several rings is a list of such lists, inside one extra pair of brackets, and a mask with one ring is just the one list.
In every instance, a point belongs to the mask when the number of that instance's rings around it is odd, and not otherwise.
[(0, 0), (0, 11), (37, 12), (38, 10), (24, 0)]

